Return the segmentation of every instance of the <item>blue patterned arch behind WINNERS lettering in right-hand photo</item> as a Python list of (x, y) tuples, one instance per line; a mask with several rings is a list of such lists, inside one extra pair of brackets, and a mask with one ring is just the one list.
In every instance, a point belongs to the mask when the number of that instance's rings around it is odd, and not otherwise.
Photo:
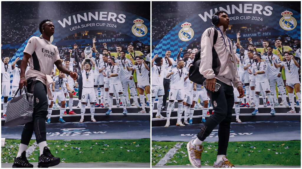
[[(227, 5), (236, 5), (239, 6), (239, 4), (243, 4), (242, 2), (229, 2), (229, 3), (223, 3), (220, 5), (212, 6), (210, 8), (201, 9), (200, 13), (197, 13), (195, 15), (190, 16), (189, 18), (183, 20), (181, 23), (176, 25), (173, 29), (171, 29), (170, 32), (165, 35), (161, 41), (157, 44), (155, 49), (152, 52), (152, 56), (155, 54), (158, 54), (159, 56), (164, 56), (165, 52), (167, 50), (171, 51), (171, 57), (175, 60), (178, 54), (179, 48), (186, 48), (189, 44), (191, 44), (196, 38), (201, 37), (202, 33), (205, 29), (213, 26), (211, 23), (211, 19), (207, 17), (207, 21), (204, 22), (204, 20), (201, 19), (198, 14), (201, 14), (204, 16), (204, 12), (208, 12), (210, 14), (210, 10), (215, 12), (214, 9), (219, 7), (226, 8)], [(253, 4), (253, 2), (249, 2), (249, 4)], [(278, 31), (282, 32), (283, 34), (289, 35), (294, 39), (301, 39), (301, 13), (294, 11), (289, 8), (285, 8), (283, 6), (266, 3), (266, 2), (257, 2), (257, 4), (265, 6), (271, 6), (273, 10), (271, 10), (272, 14), (270, 16), (265, 16), (264, 14), (258, 14), (257, 12), (255, 14), (245, 14), (245, 13), (239, 13), (236, 11), (234, 14), (228, 14), (229, 17), (234, 16), (250, 16), (250, 19), (246, 20), (231, 20), (230, 24), (257, 24), (257, 25), (265, 25), (274, 29), (277, 29)], [(292, 17), (294, 17), (297, 20), (297, 26), (293, 30), (284, 30), (279, 25), (279, 20), (283, 17), (281, 13), (285, 10), (291, 11), (293, 13)], [(263, 10), (262, 10), (263, 11)], [(260, 17), (261, 20), (251, 20), (252, 17)], [(181, 25), (185, 22), (191, 23), (191, 28), (194, 30), (194, 38), (192, 38), (189, 41), (182, 41), (178, 38), (178, 32), (180, 29), (182, 29)], [(230, 33), (230, 32), (227, 32)], [(199, 39), (197, 39), (199, 40)]]

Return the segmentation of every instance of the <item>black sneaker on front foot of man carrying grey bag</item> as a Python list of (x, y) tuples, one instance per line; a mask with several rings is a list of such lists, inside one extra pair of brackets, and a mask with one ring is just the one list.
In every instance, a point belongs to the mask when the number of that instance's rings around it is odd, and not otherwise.
[(58, 165), (60, 163), (59, 157), (54, 157), (47, 147), (44, 147), (43, 154), (39, 156), (38, 167), (47, 168)]

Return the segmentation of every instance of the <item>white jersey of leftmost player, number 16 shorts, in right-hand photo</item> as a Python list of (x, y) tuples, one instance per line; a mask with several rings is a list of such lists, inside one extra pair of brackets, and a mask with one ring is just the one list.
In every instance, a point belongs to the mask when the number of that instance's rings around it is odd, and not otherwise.
[(163, 85), (164, 77), (167, 76), (164, 73), (164, 70), (168, 68), (169, 65), (156, 66), (153, 65), (151, 68), (152, 71), (152, 85)]

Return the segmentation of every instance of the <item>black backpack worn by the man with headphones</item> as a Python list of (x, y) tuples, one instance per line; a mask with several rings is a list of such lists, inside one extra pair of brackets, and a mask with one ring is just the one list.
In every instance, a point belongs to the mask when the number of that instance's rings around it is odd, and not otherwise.
[[(216, 43), (217, 41), (217, 37), (218, 37), (218, 31), (217, 31), (217, 28), (216, 26), (213, 26), (211, 28), (214, 28), (214, 41), (213, 41), (213, 48), (212, 48), (212, 51), (215, 50), (214, 49), (214, 44)], [(200, 44), (202, 45), (202, 44)], [(203, 84), (203, 82), (206, 80), (206, 78), (200, 74), (199, 72), (199, 65), (200, 65), (200, 51), (197, 51), (197, 53), (195, 54), (195, 59), (193, 61), (193, 65), (190, 67), (190, 70), (189, 70), (189, 79), (191, 81), (193, 81), (194, 83), (196, 84)]]

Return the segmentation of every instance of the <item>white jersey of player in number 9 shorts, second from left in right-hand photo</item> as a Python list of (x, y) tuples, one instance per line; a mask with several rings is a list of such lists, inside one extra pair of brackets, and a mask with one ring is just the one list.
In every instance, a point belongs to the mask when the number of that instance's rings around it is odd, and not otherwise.
[[(187, 69), (182, 68), (178, 69), (178, 67), (173, 67), (170, 70), (171, 75), (171, 87), (172, 89), (183, 89), (184, 88), (184, 80), (187, 74), (189, 73)], [(181, 77), (180, 77), (181, 76)]]

